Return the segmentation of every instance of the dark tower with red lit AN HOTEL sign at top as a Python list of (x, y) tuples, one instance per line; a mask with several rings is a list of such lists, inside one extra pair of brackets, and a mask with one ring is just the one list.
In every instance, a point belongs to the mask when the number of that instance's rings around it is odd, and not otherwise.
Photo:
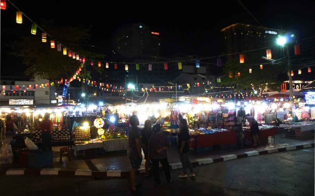
[(114, 51), (132, 60), (157, 60), (160, 56), (160, 33), (143, 23), (120, 27), (114, 38)]

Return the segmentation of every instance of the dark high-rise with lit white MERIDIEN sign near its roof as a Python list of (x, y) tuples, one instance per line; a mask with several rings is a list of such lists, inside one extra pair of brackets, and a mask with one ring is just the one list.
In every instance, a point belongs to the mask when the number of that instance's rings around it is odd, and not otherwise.
[[(235, 54), (274, 46), (276, 45), (278, 35), (284, 33), (284, 31), (280, 29), (271, 29), (242, 23), (232, 24), (221, 29), (221, 32), (224, 36), (224, 51), (226, 54)], [(227, 60), (238, 58), (238, 55), (239, 54), (228, 55)], [(272, 57), (274, 58), (274, 55)]]

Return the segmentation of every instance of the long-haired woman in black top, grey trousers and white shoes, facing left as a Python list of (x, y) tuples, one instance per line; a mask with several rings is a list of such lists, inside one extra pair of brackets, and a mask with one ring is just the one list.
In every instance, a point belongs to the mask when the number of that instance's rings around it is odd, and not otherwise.
[(190, 169), (189, 177), (195, 177), (196, 174), (192, 168), (192, 163), (190, 162), (188, 157), (190, 136), (186, 119), (180, 119), (179, 127), (180, 131), (178, 134), (178, 153), (180, 157), (180, 162), (183, 165), (183, 174), (179, 175), (178, 177), (179, 178), (187, 177), (187, 166)]

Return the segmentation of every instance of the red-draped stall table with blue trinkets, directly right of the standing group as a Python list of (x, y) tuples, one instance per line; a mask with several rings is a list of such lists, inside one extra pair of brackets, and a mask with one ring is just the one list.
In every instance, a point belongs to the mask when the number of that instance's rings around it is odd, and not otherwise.
[(190, 147), (212, 147), (214, 145), (236, 144), (236, 131), (224, 129), (199, 129), (191, 132), (194, 142), (190, 142)]

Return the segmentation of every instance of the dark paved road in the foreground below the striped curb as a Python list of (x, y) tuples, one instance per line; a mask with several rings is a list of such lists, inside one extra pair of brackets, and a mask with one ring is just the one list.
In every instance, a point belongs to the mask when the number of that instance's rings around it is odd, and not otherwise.
[[(314, 195), (314, 148), (213, 163), (195, 168), (194, 179), (178, 179), (155, 187), (152, 178), (138, 176), (143, 195)], [(4, 195), (129, 195), (126, 178), (67, 176), (2, 176)]]

